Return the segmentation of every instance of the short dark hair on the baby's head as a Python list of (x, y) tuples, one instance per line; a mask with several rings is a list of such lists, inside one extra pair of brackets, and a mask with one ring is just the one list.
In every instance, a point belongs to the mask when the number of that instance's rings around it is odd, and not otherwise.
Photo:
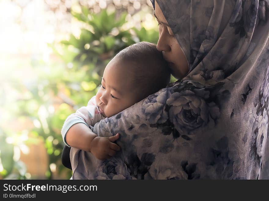
[(168, 64), (153, 43), (135, 43), (121, 50), (115, 59), (126, 63), (130, 69), (130, 79), (141, 95), (139, 101), (165, 88), (170, 82)]

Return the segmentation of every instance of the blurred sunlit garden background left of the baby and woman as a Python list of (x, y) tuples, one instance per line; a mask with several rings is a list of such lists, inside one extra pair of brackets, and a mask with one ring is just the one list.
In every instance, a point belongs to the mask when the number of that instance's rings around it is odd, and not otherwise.
[(106, 64), (157, 43), (150, 0), (0, 1), (0, 179), (69, 179), (65, 118), (98, 91)]

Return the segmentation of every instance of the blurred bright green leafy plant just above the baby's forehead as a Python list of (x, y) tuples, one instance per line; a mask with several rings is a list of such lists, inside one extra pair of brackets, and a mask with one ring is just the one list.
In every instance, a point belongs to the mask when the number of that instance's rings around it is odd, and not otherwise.
[(126, 23), (127, 13), (121, 13), (120, 17), (116, 18), (115, 12), (108, 14), (106, 10), (102, 10), (98, 14), (89, 14), (88, 9), (82, 7), (82, 13), (72, 12), (72, 15), (90, 27), (90, 30), (81, 29), (78, 38), (70, 35), (68, 41), (61, 42), (66, 46), (65, 50), (68, 46), (72, 46), (72, 53), (76, 52), (74, 55), (67, 53), (70, 55), (67, 58), (63, 54), (62, 58), (65, 62), (70, 62), (70, 58), (73, 58), (73, 62), (78, 63), (78, 68), (94, 64), (91, 71), (95, 70), (101, 75), (107, 60), (123, 48), (135, 43), (128, 30), (121, 30), (121, 26)]

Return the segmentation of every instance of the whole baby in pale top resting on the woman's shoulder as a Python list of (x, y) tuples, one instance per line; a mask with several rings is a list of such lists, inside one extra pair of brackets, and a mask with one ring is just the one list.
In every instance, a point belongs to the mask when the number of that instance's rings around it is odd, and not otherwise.
[(120, 51), (105, 67), (96, 96), (65, 120), (61, 131), (64, 143), (91, 152), (100, 160), (114, 156), (120, 150), (113, 143), (119, 134), (99, 137), (89, 126), (165, 88), (170, 81), (168, 69), (153, 43), (140, 42)]

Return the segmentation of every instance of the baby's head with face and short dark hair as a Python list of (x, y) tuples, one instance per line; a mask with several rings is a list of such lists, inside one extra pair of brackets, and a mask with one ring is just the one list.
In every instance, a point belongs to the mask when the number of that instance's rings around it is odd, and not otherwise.
[(121, 50), (105, 67), (96, 104), (106, 117), (125, 110), (165, 88), (170, 71), (153, 43), (140, 42)]

